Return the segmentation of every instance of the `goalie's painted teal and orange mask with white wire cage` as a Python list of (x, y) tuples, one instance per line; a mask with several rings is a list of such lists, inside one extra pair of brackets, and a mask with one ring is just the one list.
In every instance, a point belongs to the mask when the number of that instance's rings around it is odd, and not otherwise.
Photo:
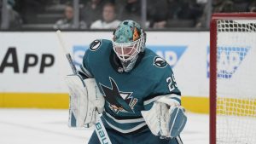
[(145, 32), (133, 20), (124, 20), (113, 32), (113, 51), (125, 72), (130, 72), (135, 66), (138, 54), (144, 51), (145, 41)]

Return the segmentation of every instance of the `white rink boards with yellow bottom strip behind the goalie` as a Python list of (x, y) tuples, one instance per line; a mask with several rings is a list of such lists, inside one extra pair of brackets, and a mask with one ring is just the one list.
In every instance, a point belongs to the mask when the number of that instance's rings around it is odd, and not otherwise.
[[(79, 66), (90, 42), (112, 32), (62, 32)], [(209, 32), (148, 32), (147, 47), (172, 66), (183, 106), (208, 112)], [(0, 32), (0, 107), (67, 108), (72, 73), (55, 32)]]

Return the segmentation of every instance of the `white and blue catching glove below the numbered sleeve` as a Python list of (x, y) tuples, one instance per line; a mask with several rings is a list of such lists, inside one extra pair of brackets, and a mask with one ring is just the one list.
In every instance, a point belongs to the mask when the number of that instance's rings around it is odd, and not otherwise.
[(177, 137), (183, 130), (187, 116), (185, 109), (175, 100), (161, 97), (148, 111), (142, 111), (148, 128), (161, 138)]

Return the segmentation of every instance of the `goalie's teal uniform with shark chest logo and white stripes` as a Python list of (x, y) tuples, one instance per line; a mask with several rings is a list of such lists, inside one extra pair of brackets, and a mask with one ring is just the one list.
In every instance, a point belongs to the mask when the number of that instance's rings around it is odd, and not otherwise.
[[(102, 121), (113, 143), (181, 143), (179, 137), (161, 140), (154, 136), (141, 114), (141, 111), (149, 110), (160, 96), (180, 103), (181, 93), (166, 60), (145, 49), (139, 54), (132, 71), (124, 72), (113, 52), (113, 43), (100, 39), (91, 43), (85, 52), (81, 72), (87, 78), (96, 79), (105, 97)], [(99, 143), (96, 133), (89, 143)]]

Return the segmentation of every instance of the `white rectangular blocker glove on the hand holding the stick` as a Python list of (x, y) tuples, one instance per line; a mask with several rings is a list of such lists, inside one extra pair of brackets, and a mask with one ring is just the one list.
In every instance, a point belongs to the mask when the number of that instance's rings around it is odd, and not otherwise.
[(95, 78), (82, 79), (79, 75), (66, 78), (69, 91), (69, 127), (90, 127), (97, 115), (103, 112), (105, 99), (96, 85)]

